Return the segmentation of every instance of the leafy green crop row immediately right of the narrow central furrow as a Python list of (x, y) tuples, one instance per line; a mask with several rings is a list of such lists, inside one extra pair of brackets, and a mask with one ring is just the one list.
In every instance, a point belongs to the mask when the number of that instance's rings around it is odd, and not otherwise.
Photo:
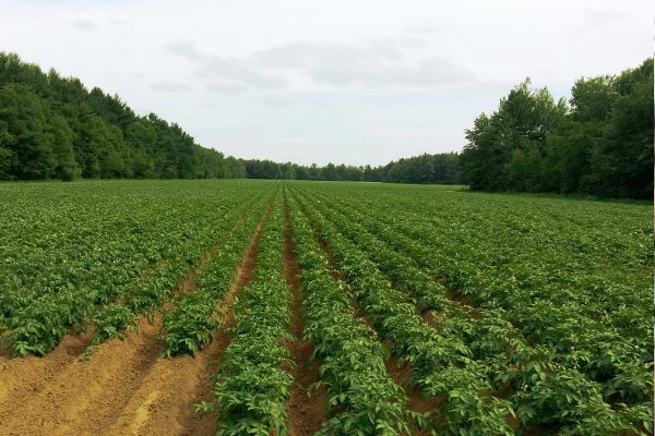
[(312, 341), (319, 384), (327, 392), (329, 420), (322, 435), (412, 434), (421, 414), (407, 409), (407, 397), (386, 373), (389, 352), (374, 330), (354, 316), (343, 282), (333, 278), (307, 218), (289, 202), (294, 250), (305, 291), (305, 339)]

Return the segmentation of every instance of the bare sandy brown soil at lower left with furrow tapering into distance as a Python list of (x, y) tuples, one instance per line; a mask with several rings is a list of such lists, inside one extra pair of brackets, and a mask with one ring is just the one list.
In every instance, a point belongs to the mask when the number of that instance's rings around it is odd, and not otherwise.
[(262, 217), (235, 280), (218, 308), (225, 324), (195, 355), (163, 359), (160, 316), (139, 320), (140, 334), (96, 347), (80, 360), (90, 335), (67, 336), (45, 358), (0, 361), (0, 435), (213, 435), (215, 417), (199, 420), (193, 404), (211, 400), (211, 365), (229, 343), (231, 303), (252, 278)]

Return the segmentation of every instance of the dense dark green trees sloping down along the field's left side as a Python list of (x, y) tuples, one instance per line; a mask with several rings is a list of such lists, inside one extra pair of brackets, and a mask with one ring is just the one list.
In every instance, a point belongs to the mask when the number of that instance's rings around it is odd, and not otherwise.
[(0, 180), (245, 177), (179, 125), (0, 52)]

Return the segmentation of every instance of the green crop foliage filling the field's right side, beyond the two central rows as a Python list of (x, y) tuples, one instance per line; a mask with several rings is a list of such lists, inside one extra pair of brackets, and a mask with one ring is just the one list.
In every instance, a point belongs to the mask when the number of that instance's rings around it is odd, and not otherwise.
[[(524, 432), (647, 434), (647, 206), (293, 186), (412, 382), (442, 398), (443, 432), (485, 434), (513, 411)], [(433, 313), (434, 330), (413, 312)]]

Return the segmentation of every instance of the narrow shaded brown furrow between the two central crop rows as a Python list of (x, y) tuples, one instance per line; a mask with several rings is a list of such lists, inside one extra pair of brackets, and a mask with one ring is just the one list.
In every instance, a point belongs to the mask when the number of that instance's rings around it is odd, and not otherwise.
[(324, 388), (319, 388), (308, 396), (308, 387), (317, 382), (319, 362), (308, 364), (313, 353), (313, 343), (302, 338), (302, 289), (300, 287), (300, 268), (294, 253), (294, 241), (289, 226), (288, 208), (285, 204), (285, 246), (284, 246), (284, 276), (293, 290), (293, 324), (291, 332), (298, 338), (287, 342), (296, 368), (289, 370), (296, 384), (291, 389), (291, 399), (287, 407), (289, 415), (289, 436), (309, 436), (319, 431), (326, 419), (326, 395)]

